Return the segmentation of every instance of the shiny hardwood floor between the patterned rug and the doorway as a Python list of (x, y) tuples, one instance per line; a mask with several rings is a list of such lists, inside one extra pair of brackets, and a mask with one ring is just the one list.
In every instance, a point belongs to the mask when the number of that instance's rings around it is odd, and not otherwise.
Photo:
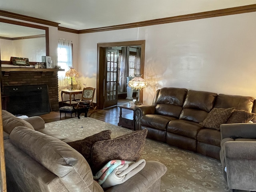
[[(126, 100), (126, 99), (119, 99), (118, 100), (118, 105), (121, 104), (125, 104), (128, 103), (130, 100)], [(89, 110), (87, 116), (91, 117), (91, 118), (95, 118), (98, 120), (102, 120), (104, 122), (113, 124), (113, 125), (117, 125), (119, 122), (119, 112), (120, 109), (118, 106), (113, 106), (110, 108), (106, 108), (104, 110), (95, 110), (94, 112), (92, 112), (92, 109)], [(125, 112), (123, 112), (123, 114), (129, 114), (132, 113), (131, 110), (127, 110)], [(83, 116), (84, 114), (81, 114), (80, 116)], [(54, 122), (54, 121), (59, 121), (59, 120), (64, 120), (64, 119), (68, 119), (68, 118), (77, 118), (75, 117), (75, 114), (72, 114), (72, 117), (70, 116), (70, 114), (65, 114), (62, 113), (61, 118), (60, 118), (60, 113), (57, 111), (52, 111), (48, 114), (44, 114), (44, 115), (40, 115), (40, 117), (42, 117), (44, 119), (44, 121), (46, 123), (49, 122)]]

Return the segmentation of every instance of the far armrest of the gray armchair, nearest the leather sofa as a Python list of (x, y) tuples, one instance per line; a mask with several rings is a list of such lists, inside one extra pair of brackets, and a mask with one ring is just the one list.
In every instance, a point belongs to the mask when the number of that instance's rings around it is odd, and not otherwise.
[(256, 138), (256, 123), (234, 123), (220, 125), (221, 139), (231, 136)]

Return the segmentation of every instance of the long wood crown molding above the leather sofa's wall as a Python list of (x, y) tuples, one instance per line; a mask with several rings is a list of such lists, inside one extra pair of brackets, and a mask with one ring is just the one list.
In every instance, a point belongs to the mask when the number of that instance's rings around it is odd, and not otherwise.
[(129, 23), (129, 24), (84, 29), (84, 30), (79, 30), (78, 32), (79, 34), (94, 33), (94, 32), (102, 32), (102, 31), (110, 31), (110, 30), (144, 27), (144, 26), (150, 26), (150, 25), (159, 25), (159, 24), (166, 24), (166, 23), (173, 23), (173, 22), (182, 22), (182, 21), (189, 21), (189, 20), (196, 20), (196, 19), (204, 19), (204, 18), (211, 18), (211, 17), (219, 17), (219, 16), (226, 16), (226, 15), (234, 15), (234, 14), (241, 14), (241, 13), (248, 13), (248, 12), (256, 12), (256, 4), (220, 9), (220, 10), (213, 10), (213, 11), (206, 11), (206, 12), (200, 12), (200, 13), (193, 13), (193, 14), (187, 14), (187, 15), (181, 15), (181, 16), (173, 16), (173, 17), (167, 17), (167, 18), (161, 18), (161, 19), (147, 20), (147, 21), (135, 22), (135, 23)]

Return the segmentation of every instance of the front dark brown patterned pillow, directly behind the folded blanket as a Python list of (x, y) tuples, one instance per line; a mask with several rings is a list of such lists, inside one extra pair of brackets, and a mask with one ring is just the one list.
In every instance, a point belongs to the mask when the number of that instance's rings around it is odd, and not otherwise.
[(96, 174), (110, 160), (136, 161), (140, 158), (148, 130), (98, 141), (92, 146), (92, 173)]

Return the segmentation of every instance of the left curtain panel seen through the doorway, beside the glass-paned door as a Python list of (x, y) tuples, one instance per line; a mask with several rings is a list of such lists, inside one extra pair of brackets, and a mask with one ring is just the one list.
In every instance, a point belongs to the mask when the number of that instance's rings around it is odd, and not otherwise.
[(129, 47), (122, 47), (122, 61), (120, 68), (119, 91), (126, 92), (127, 78), (129, 76)]

